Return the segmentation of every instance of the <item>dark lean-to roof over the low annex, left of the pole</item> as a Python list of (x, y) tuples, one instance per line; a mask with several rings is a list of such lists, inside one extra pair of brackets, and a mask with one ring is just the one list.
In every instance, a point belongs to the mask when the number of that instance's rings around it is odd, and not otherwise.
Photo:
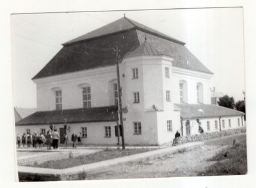
[(67, 119), (67, 124), (81, 122), (114, 122), (118, 120), (117, 111), (118, 106), (106, 106), (35, 112), (25, 119), (16, 122), (16, 126), (64, 124), (65, 119)]

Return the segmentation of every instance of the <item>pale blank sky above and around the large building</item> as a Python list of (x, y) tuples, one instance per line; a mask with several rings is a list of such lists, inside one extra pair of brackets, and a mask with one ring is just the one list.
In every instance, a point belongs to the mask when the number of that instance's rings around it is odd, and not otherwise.
[(211, 87), (244, 98), (243, 9), (101, 11), (12, 15), (13, 105), (36, 108), (36, 84), (31, 80), (62, 43), (125, 16), (186, 47), (214, 75)]

